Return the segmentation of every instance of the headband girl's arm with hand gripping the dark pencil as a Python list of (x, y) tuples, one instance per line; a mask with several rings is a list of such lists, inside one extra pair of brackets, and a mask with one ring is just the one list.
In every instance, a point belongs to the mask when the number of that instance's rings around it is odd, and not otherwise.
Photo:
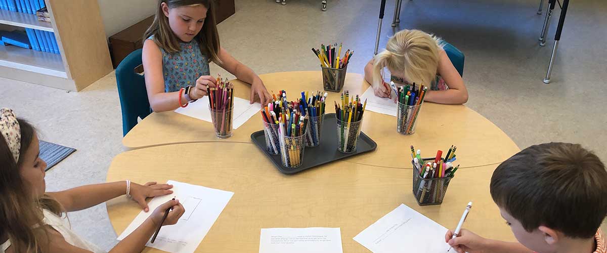
[[(163, 226), (177, 224), (177, 221), (181, 215), (183, 215), (185, 209), (183, 209), (183, 206), (178, 200), (171, 200), (158, 206), (147, 220), (143, 221), (135, 231), (114, 246), (109, 253), (143, 251), (149, 238), (154, 235), (154, 232), (158, 228), (158, 224), (162, 220), (164, 212), (169, 208), (172, 208), (172, 211), (169, 212), (166, 220), (164, 220)], [(86, 249), (81, 249), (67, 243), (63, 235), (59, 234), (55, 229), (52, 229), (49, 226), (47, 226), (46, 229), (49, 231), (49, 245), (46, 250), (43, 250), (42, 252), (90, 253), (90, 251), (87, 251)]]

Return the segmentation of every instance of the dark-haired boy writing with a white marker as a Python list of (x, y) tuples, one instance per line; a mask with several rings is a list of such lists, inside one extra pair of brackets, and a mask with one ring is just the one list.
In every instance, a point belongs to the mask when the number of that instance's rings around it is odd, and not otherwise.
[(579, 144), (527, 147), (495, 169), (491, 197), (518, 243), (462, 229), (445, 240), (457, 252), (606, 253), (600, 225), (607, 215), (607, 171)]

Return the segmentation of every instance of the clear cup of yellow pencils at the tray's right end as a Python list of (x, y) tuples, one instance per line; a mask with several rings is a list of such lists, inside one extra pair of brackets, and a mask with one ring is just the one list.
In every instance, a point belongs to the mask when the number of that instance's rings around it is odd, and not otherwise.
[(365, 106), (358, 95), (350, 100), (348, 91), (342, 93), (341, 104), (335, 103), (335, 116), (337, 120), (337, 150), (342, 153), (356, 152), (356, 143), (362, 129), (362, 116)]

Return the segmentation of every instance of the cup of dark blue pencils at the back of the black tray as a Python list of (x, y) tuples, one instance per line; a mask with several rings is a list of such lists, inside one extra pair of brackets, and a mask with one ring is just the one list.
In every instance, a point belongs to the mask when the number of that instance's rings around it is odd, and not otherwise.
[(308, 126), (306, 127), (306, 135), (304, 138), (306, 147), (317, 147), (320, 145), (320, 132), (322, 132), (322, 122), (325, 115), (325, 100), (327, 93), (324, 95), (320, 92), (308, 96), (307, 92), (302, 92), (302, 108), (309, 115)]

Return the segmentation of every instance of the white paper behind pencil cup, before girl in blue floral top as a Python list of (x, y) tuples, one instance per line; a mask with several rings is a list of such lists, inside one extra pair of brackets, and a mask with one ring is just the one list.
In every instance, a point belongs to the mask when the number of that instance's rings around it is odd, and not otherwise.
[[(234, 129), (245, 124), (251, 116), (259, 113), (262, 109), (260, 103), (249, 104), (248, 100), (234, 97)], [(201, 98), (194, 103), (189, 103), (188, 107), (179, 107), (175, 112), (197, 118), (198, 120), (211, 121), (211, 112), (209, 112), (209, 100), (208, 98)]]

